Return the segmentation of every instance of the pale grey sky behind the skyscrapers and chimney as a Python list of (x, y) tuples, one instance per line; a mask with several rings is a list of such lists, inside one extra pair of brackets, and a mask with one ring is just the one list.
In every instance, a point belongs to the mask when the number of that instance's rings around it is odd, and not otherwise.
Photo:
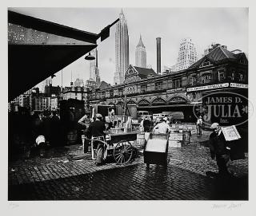
[[(162, 70), (164, 66), (175, 65), (180, 42), (190, 37), (198, 52), (213, 42), (226, 45), (228, 50), (241, 49), (248, 53), (248, 9), (236, 8), (10, 8), (21, 14), (42, 18), (65, 26), (99, 33), (114, 22), (121, 9), (125, 15), (128, 33), (130, 64), (135, 64), (135, 49), (140, 34), (146, 46), (146, 64), (156, 71), (156, 37), (162, 41)], [(98, 40), (98, 69), (101, 81), (113, 84), (115, 71), (114, 53), (115, 26), (110, 29), (110, 37)], [(55, 73), (53, 85), (70, 86), (71, 81), (90, 76), (89, 61), (79, 58)], [(62, 80), (61, 80), (62, 77)]]

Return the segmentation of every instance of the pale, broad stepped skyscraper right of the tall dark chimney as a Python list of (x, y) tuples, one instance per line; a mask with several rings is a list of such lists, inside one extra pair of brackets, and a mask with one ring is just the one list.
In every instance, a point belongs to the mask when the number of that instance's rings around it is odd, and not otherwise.
[(178, 51), (178, 60), (175, 65), (175, 71), (187, 69), (190, 65), (194, 64), (195, 61), (198, 61), (198, 54), (194, 43), (191, 41), (191, 38), (184, 38)]

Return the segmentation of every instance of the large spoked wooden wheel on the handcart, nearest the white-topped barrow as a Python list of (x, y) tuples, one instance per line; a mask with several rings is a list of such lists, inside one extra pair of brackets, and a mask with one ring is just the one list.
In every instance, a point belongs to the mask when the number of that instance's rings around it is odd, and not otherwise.
[(114, 147), (114, 160), (116, 163), (128, 163), (133, 155), (133, 147), (129, 141), (120, 141)]

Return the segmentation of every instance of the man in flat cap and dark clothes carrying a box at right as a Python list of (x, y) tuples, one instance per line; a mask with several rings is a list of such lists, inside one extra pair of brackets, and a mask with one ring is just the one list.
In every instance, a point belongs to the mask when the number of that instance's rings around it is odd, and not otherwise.
[(210, 156), (215, 159), (218, 165), (218, 174), (221, 176), (230, 176), (230, 171), (227, 168), (227, 163), (230, 161), (229, 147), (222, 133), (222, 128), (218, 123), (210, 126), (213, 132), (210, 134)]

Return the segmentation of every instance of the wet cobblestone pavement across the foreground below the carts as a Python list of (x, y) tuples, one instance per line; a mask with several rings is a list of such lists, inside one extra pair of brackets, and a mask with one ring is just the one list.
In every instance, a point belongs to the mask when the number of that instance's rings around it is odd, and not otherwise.
[[(205, 137), (200, 139), (207, 138)], [(126, 165), (113, 162), (96, 167), (82, 147), (51, 148), (44, 156), (9, 164), (9, 200), (248, 200), (248, 158), (231, 161), (234, 178), (216, 173), (209, 148), (197, 137), (181, 148), (169, 147), (168, 166), (143, 163), (143, 156)], [(203, 141), (203, 140), (202, 140)]]

